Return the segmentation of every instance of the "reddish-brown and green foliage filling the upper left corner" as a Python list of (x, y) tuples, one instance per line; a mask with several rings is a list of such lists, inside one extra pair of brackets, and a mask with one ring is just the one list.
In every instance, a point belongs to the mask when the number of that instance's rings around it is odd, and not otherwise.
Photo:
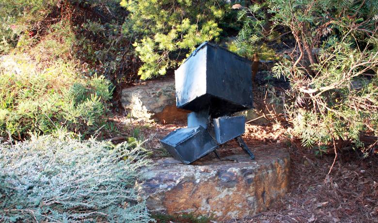
[(77, 60), (114, 84), (134, 80), (126, 13), (118, 0), (0, 0), (0, 54), (27, 52), (42, 66)]

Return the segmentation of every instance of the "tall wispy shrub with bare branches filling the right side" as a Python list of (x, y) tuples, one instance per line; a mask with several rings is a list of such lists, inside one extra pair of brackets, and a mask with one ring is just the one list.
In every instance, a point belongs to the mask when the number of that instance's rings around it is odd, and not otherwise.
[[(337, 153), (352, 145), (367, 155), (375, 143), (364, 146), (363, 136), (378, 135), (378, 2), (268, 0), (265, 5), (272, 29), (290, 30), (297, 46), (273, 67), (291, 83), (290, 91), (276, 96), (286, 97), (291, 133), (305, 146), (331, 145)], [(261, 8), (255, 4), (245, 11), (254, 24), (264, 22), (258, 21)]]

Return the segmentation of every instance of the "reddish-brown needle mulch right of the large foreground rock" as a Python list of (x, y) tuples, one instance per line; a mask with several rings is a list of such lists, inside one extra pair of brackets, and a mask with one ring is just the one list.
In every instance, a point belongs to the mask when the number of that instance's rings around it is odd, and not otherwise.
[(268, 211), (237, 223), (377, 223), (378, 156), (339, 154), (327, 176), (333, 155), (288, 148), (291, 158), (289, 192)]

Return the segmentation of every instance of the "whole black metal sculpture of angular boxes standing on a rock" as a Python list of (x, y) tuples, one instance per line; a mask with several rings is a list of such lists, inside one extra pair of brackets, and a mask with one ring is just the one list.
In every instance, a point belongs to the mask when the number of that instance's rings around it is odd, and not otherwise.
[(179, 128), (160, 142), (175, 159), (189, 164), (236, 139), (254, 159), (240, 137), (244, 116), (252, 108), (251, 62), (209, 42), (196, 48), (175, 71), (176, 106), (193, 111), (188, 127)]

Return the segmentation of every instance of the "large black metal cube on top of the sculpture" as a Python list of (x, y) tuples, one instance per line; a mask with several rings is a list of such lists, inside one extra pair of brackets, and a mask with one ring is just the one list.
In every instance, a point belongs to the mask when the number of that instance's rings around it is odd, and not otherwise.
[(175, 71), (176, 105), (212, 117), (252, 108), (251, 62), (205, 42)]

